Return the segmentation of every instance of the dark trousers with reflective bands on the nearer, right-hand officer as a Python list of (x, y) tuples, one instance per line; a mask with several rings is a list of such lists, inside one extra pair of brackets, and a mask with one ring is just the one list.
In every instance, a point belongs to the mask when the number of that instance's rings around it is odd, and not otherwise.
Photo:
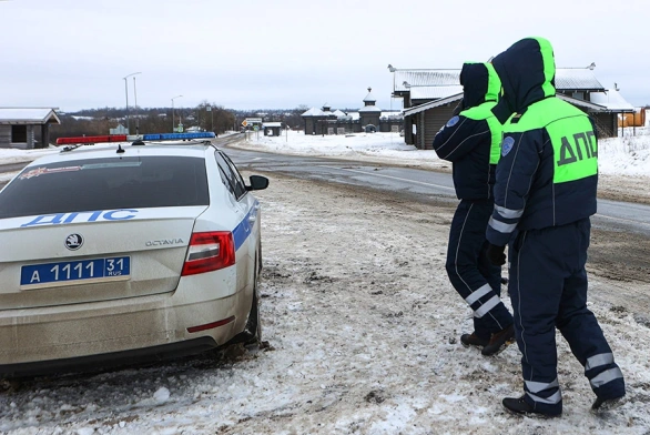
[(526, 401), (541, 413), (562, 409), (557, 374), (556, 327), (585, 367), (597, 396), (619, 397), (624, 381), (593, 313), (587, 308), (585, 219), (518, 234), (509, 252), (509, 293)]

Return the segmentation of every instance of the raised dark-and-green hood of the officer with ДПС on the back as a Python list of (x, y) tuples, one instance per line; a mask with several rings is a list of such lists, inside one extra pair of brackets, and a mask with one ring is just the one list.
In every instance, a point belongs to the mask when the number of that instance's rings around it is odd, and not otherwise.
[(495, 59), (504, 93), (492, 109), (501, 123), (512, 113), (524, 113), (530, 104), (556, 94), (556, 64), (550, 42), (526, 38), (515, 42)]

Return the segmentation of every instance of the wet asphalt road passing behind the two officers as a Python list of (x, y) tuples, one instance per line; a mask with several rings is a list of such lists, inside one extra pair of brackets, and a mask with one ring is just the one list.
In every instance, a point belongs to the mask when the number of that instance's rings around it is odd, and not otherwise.
[[(449, 208), (458, 203), (451, 175), (413, 168), (351, 162), (327, 158), (278, 155), (224, 148), (235, 164), (247, 173), (288, 175), (305, 180), (304, 189), (318, 189), (322, 182), (357, 189), (377, 201), (393, 196), (392, 204), (428, 204)], [(396, 198), (397, 196), (397, 198)], [(437, 209), (439, 210), (439, 209)], [(650, 206), (598, 200), (598, 213), (591, 218), (591, 247), (588, 273), (592, 281), (590, 297), (612, 310), (630, 313), (650, 327)]]

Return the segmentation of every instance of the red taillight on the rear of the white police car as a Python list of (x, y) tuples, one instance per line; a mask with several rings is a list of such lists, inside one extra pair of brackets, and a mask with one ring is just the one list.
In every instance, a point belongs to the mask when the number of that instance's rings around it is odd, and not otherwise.
[(216, 271), (235, 264), (235, 241), (230, 231), (193, 233), (182, 276)]

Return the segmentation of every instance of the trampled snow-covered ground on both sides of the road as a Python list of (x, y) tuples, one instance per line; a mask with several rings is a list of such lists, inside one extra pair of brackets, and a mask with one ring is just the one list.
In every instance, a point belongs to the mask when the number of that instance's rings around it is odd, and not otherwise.
[[(601, 173), (647, 182), (649, 138), (601, 141)], [(242, 146), (448, 166), (397, 134), (250, 139)], [(0, 164), (53, 151), (0, 151)], [(296, 189), (292, 179), (271, 178), (267, 190), (255, 192), (263, 210), (262, 316), (271, 347), (6, 384), (0, 433), (650, 433), (650, 325), (598, 297), (616, 289), (607, 279), (591, 277), (590, 308), (626, 375), (627, 402), (590, 414), (593, 394), (558, 335), (565, 414), (515, 417), (500, 399), (521, 394), (517, 347), (483, 357), (458, 343), (471, 317), (444, 271), (453, 210), (334, 183), (301, 182)]]

